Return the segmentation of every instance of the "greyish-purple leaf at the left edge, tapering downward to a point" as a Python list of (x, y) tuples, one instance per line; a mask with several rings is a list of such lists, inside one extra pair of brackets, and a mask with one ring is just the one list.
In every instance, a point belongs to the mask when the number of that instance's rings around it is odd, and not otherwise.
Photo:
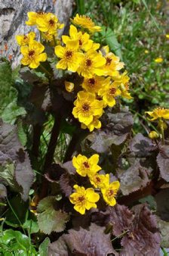
[[(17, 136), (17, 126), (2, 123), (0, 126), (0, 164), (8, 170), (8, 178), (0, 173), (2, 180), (9, 186), (17, 183), (15, 189), (26, 201), (34, 178), (29, 156)], [(7, 179), (6, 179), (7, 178)], [(10, 180), (10, 182), (8, 182)]]

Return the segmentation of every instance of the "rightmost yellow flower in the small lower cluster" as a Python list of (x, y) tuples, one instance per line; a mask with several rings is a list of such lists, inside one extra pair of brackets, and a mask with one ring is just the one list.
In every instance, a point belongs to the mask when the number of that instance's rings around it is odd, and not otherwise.
[(105, 186), (101, 189), (103, 199), (110, 206), (114, 206), (116, 204), (115, 195), (117, 195), (120, 183), (118, 182), (118, 180), (109, 183), (109, 176), (106, 176), (106, 181), (104, 182), (104, 185)]

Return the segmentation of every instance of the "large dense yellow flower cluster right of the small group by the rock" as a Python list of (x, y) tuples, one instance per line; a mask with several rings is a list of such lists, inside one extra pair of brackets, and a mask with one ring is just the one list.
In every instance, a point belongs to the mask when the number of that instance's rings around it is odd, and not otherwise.
[[(64, 45), (55, 47), (55, 55), (60, 58), (56, 67), (77, 72), (83, 77), (82, 90), (77, 94), (72, 114), (81, 123), (82, 129), (88, 128), (92, 132), (94, 128), (101, 127), (99, 118), (103, 108), (113, 107), (119, 95), (132, 98), (128, 86), (129, 77), (126, 71), (119, 72), (124, 63), (109, 52), (109, 46), (101, 48), (100, 44), (91, 39), (89, 33), (100, 31), (100, 27), (95, 26), (90, 18), (78, 14), (72, 23), (83, 30), (79, 31), (71, 25), (69, 36), (62, 36)], [(66, 81), (66, 86), (68, 84), (69, 81)], [(73, 90), (74, 86), (71, 88)], [(66, 90), (72, 91), (69, 87)]]

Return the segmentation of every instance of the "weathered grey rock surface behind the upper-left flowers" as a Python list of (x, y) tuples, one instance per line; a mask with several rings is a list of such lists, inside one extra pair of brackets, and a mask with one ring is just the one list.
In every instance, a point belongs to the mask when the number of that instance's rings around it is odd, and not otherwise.
[[(35, 27), (26, 26), (28, 11), (45, 11), (57, 15), (60, 23), (68, 23), (73, 0), (0, 0), (0, 50), (12, 58), (13, 67), (20, 64), (20, 47), (15, 36), (29, 33)], [(62, 31), (63, 32), (63, 31)]]

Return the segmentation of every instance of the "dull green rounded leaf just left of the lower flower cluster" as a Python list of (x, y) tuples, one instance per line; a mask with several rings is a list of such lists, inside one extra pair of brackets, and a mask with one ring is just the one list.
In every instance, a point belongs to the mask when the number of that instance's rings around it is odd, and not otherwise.
[(65, 229), (69, 215), (64, 211), (55, 211), (57, 200), (54, 196), (47, 197), (38, 203), (38, 226), (45, 234), (62, 232)]

